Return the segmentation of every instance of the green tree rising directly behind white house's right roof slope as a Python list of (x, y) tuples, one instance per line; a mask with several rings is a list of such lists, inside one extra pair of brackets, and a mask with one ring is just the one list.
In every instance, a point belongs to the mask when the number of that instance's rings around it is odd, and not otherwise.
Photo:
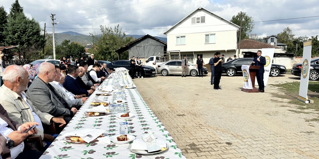
[[(238, 26), (240, 26), (241, 23), (241, 40), (248, 39), (249, 33), (255, 28), (254, 19), (248, 16), (246, 12), (239, 12), (237, 15), (234, 15), (230, 21)], [(237, 41), (239, 41), (239, 36)]]

